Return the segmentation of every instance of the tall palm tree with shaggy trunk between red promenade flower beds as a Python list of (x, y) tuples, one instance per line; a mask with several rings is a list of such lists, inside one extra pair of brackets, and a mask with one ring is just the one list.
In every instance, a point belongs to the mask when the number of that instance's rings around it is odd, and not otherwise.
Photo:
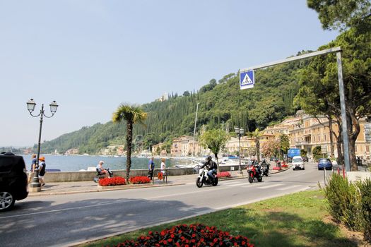
[(126, 121), (126, 181), (129, 181), (131, 168), (131, 142), (133, 140), (133, 125), (134, 123), (142, 123), (146, 120), (147, 113), (143, 112), (141, 107), (134, 104), (120, 104), (116, 112), (112, 114), (112, 121), (119, 123)]

